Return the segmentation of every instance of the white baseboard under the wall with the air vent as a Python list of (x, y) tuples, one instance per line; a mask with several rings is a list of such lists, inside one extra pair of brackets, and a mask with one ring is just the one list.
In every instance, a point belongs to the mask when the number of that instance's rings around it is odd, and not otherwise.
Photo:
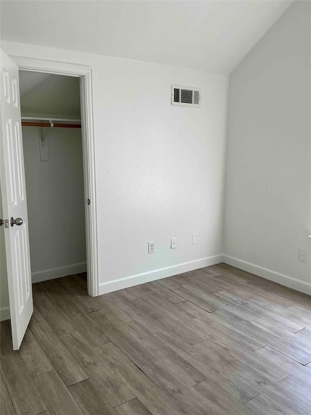
[(144, 284), (155, 281), (160, 278), (172, 277), (173, 275), (182, 274), (183, 272), (197, 270), (198, 268), (208, 267), (223, 262), (223, 255), (208, 256), (207, 258), (195, 259), (194, 261), (184, 262), (171, 267), (160, 268), (154, 271), (143, 272), (142, 274), (131, 275), (114, 281), (107, 281), (99, 285), (99, 295), (118, 289), (133, 287), (138, 284)]

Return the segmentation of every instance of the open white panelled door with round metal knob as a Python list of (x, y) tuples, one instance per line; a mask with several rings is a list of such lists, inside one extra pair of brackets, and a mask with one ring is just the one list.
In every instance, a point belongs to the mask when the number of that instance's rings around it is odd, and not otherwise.
[[(23, 340), (33, 313), (28, 218), (17, 65), (1, 51), (1, 158), (3, 204), (13, 349)], [(12, 222), (16, 220), (16, 224)], [(21, 220), (20, 220), (21, 219)], [(22, 223), (21, 223), (22, 222)]]

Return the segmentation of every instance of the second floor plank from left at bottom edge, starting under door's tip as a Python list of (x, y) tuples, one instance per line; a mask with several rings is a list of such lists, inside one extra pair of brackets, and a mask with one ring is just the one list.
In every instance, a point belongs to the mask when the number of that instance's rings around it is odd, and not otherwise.
[(1, 374), (12, 399), (17, 415), (36, 415), (47, 410), (33, 379), (30, 377), (11, 339), (0, 344)]

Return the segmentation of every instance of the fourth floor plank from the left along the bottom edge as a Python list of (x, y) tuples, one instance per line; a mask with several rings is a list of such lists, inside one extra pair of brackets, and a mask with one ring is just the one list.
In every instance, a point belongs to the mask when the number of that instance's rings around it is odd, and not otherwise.
[(69, 386), (68, 390), (85, 415), (117, 414), (92, 379)]

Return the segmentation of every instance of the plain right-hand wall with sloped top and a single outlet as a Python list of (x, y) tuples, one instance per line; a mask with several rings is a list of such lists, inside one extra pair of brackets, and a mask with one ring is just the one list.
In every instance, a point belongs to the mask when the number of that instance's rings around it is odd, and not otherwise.
[(294, 1), (230, 75), (224, 251), (232, 265), (309, 293), (310, 6)]

